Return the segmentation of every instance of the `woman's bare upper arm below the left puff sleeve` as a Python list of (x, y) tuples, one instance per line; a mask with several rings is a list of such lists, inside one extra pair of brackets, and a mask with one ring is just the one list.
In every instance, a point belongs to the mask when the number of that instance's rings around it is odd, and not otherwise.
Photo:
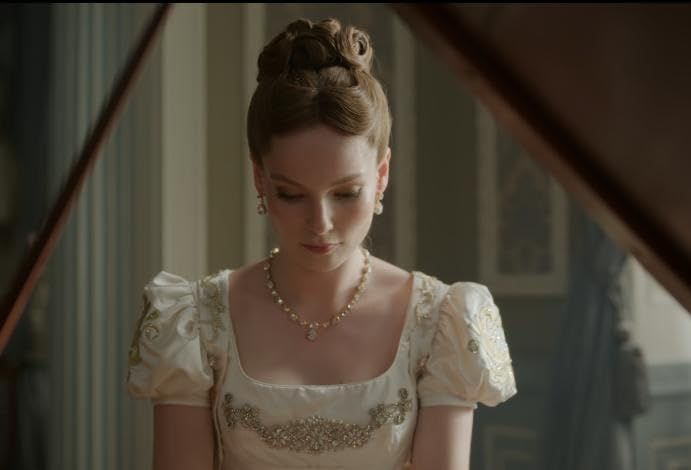
[(214, 428), (211, 409), (154, 407), (154, 470), (212, 470)]

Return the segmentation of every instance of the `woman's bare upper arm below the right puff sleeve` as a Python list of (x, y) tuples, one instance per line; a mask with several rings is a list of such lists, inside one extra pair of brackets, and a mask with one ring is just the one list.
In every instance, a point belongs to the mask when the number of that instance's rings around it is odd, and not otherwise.
[(468, 470), (472, 432), (472, 408), (420, 408), (413, 442), (413, 470)]

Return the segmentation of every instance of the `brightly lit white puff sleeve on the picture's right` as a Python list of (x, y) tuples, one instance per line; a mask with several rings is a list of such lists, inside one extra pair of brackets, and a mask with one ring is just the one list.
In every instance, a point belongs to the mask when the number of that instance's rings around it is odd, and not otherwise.
[(449, 287), (424, 369), (418, 382), (421, 406), (496, 406), (516, 394), (501, 317), (487, 287), (470, 282)]

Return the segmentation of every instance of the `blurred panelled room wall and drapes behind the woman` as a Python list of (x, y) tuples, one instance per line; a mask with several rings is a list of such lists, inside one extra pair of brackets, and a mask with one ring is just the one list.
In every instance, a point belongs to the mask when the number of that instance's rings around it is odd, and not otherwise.
[[(141, 4), (0, 6), (0, 288), (41, 228), (128, 53)], [(290, 21), (368, 31), (393, 111), (372, 251), (489, 286), (518, 395), (480, 407), (473, 470), (691, 469), (691, 316), (386, 5), (177, 5), (0, 356), (0, 468), (149, 468), (129, 398), (144, 284), (272, 246), (245, 112)]]

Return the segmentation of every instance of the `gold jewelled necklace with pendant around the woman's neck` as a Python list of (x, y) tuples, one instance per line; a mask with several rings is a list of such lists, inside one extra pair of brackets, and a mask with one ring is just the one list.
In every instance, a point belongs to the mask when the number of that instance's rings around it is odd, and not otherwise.
[(305, 330), (305, 338), (307, 338), (310, 341), (315, 341), (317, 339), (320, 328), (326, 329), (335, 325), (336, 323), (343, 320), (343, 318), (345, 318), (345, 316), (351, 312), (355, 304), (358, 302), (358, 300), (360, 300), (360, 297), (365, 292), (367, 278), (369, 276), (369, 273), (372, 272), (372, 267), (370, 266), (369, 262), (369, 252), (366, 249), (362, 248), (362, 254), (365, 256), (365, 265), (362, 268), (360, 283), (355, 289), (355, 294), (353, 294), (353, 297), (350, 299), (350, 302), (348, 302), (348, 304), (345, 306), (345, 308), (343, 308), (343, 310), (332, 315), (328, 321), (321, 323), (308, 322), (306, 320), (303, 320), (297, 312), (293, 311), (290, 307), (288, 307), (288, 305), (276, 291), (276, 283), (274, 282), (273, 277), (271, 276), (271, 263), (277, 253), (278, 248), (274, 248), (273, 250), (271, 250), (271, 252), (269, 253), (269, 258), (266, 260), (266, 263), (264, 264), (264, 272), (266, 273), (266, 288), (271, 293), (271, 297), (273, 298), (276, 305), (278, 305), (278, 307), (288, 315), (288, 318), (300, 325)]

